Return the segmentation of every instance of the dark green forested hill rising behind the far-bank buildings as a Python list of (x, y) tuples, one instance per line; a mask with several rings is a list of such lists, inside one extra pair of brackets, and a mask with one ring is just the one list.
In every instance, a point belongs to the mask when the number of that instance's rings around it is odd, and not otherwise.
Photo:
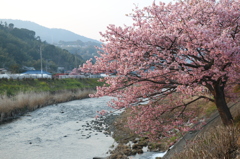
[(24, 66), (41, 69), (40, 47), (42, 50), (43, 70), (56, 72), (57, 67), (72, 70), (83, 59), (47, 42), (42, 42), (35, 32), (15, 28), (14, 24), (0, 24), (0, 67), (13, 73), (24, 71)]

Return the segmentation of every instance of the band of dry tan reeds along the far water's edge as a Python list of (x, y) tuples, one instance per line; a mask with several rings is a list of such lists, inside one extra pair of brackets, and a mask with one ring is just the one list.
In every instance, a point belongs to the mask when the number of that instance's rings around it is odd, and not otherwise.
[(61, 91), (54, 94), (49, 92), (20, 92), (14, 97), (2, 95), (0, 96), (0, 121), (46, 105), (86, 98), (93, 92), (94, 90), (79, 90), (76, 92)]

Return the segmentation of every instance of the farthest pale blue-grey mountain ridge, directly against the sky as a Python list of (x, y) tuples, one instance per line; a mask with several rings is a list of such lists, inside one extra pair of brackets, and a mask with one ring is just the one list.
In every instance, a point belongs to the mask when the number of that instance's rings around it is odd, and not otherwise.
[(75, 34), (71, 31), (65, 29), (56, 29), (56, 28), (47, 28), (36, 24), (30, 21), (23, 21), (23, 20), (13, 20), (13, 19), (0, 19), (3, 25), (5, 22), (7, 24), (14, 24), (17, 28), (25, 28), (28, 30), (33, 30), (36, 33), (36, 36), (40, 36), (42, 41), (46, 41), (50, 44), (57, 44), (59, 41), (76, 41), (81, 40), (82, 42), (96, 42), (100, 43), (97, 40), (90, 39), (78, 34)]

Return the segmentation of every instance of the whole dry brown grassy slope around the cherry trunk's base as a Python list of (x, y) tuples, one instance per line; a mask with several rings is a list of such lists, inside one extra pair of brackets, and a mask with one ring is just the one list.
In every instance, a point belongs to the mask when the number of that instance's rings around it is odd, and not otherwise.
[[(177, 144), (175, 154), (167, 156), (172, 159), (240, 159), (240, 103), (228, 103), (234, 117), (231, 127), (222, 125), (218, 113), (213, 114), (209, 122), (197, 133), (197, 137), (186, 137), (187, 145)], [(186, 141), (185, 140), (185, 141)], [(184, 149), (182, 149), (184, 148)]]

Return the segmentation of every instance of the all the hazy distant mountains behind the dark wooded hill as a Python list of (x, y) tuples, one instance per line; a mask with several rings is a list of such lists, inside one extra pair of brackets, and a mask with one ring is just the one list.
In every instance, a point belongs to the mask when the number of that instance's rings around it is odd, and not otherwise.
[(92, 58), (94, 62), (94, 56), (99, 56), (95, 48), (101, 45), (99, 41), (77, 35), (71, 31), (50, 29), (34, 22), (22, 20), (0, 19), (0, 23), (5, 27), (8, 27), (8, 24), (14, 24), (17, 28), (33, 30), (35, 36), (41, 37), (42, 41), (66, 49), (74, 55), (80, 55), (84, 61)]

